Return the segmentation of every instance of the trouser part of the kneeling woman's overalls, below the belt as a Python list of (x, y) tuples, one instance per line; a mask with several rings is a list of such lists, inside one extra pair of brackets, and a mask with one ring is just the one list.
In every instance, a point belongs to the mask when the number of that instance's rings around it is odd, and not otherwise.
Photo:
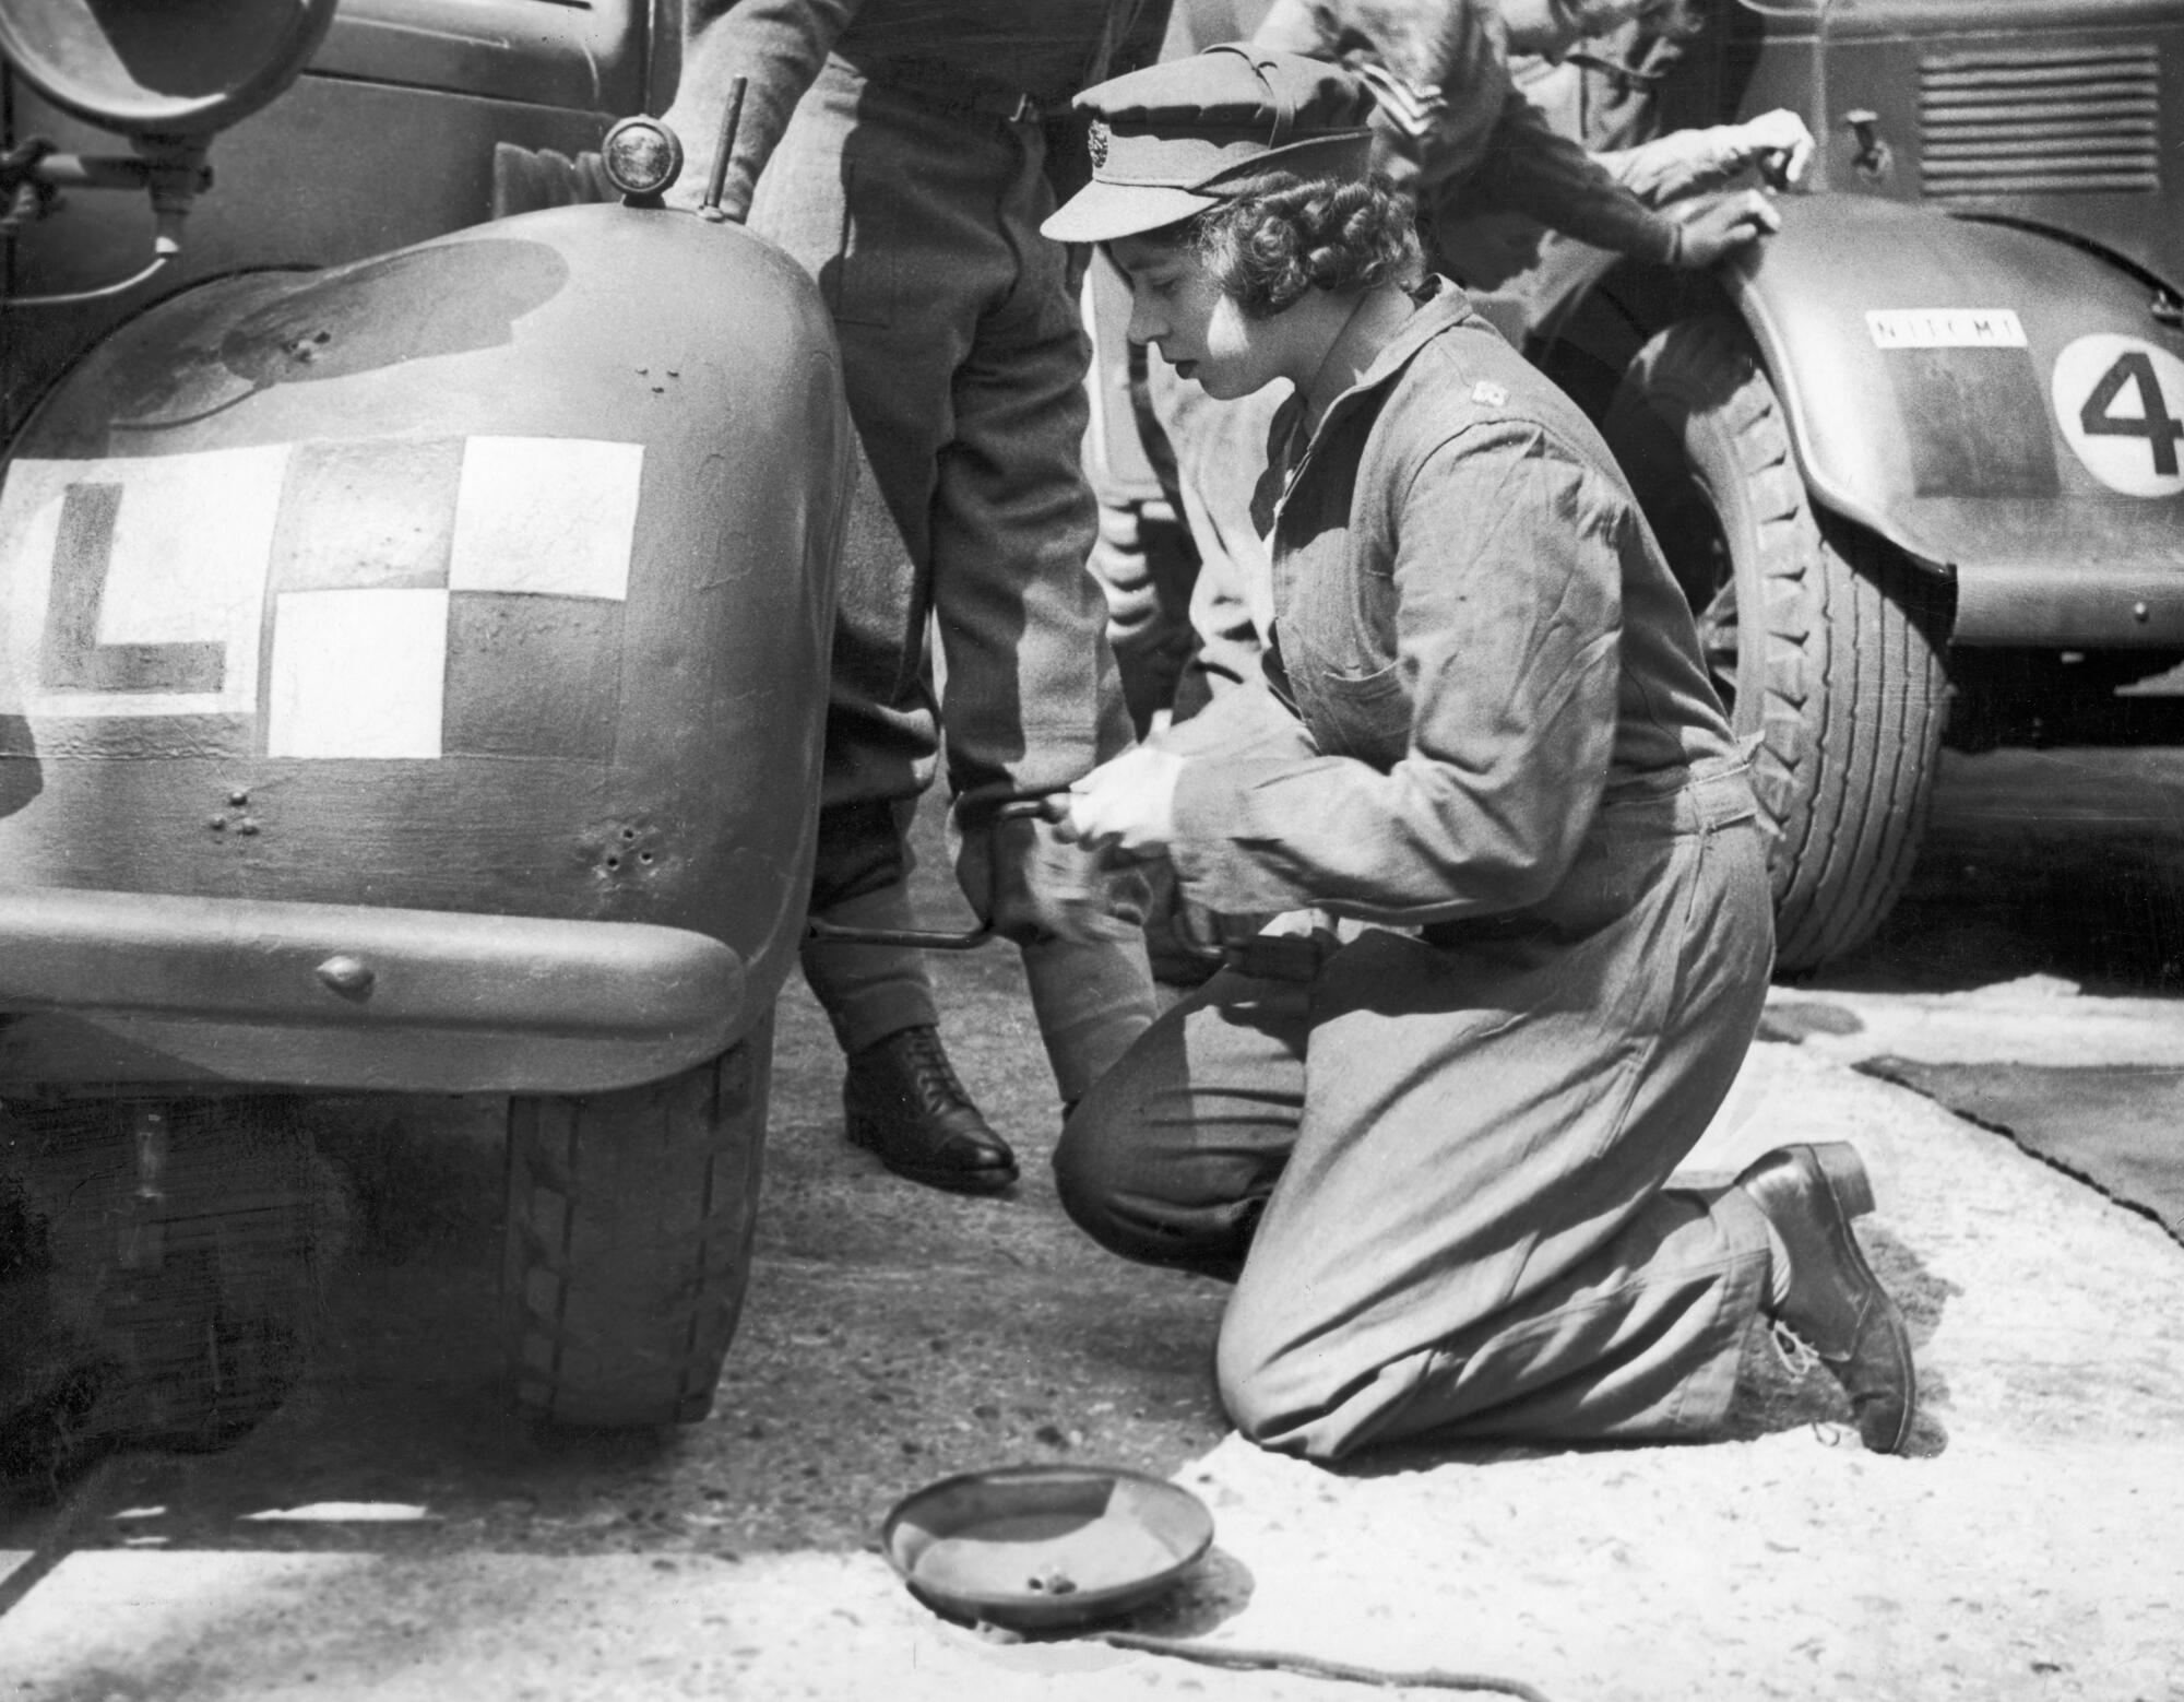
[(1767, 1226), (1669, 1178), (1773, 957), (1743, 769), (1612, 784), (1544, 905), (1422, 933), (1168, 1009), (1070, 1119), (1064, 1206), (1236, 1280), (1216, 1372), (1262, 1446), (1712, 1431)]

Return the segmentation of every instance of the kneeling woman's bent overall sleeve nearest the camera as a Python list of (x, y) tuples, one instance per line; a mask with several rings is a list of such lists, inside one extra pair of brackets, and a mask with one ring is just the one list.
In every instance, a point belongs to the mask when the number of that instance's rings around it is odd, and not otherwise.
[(1208, 909), (1393, 924), (1520, 909), (1555, 889), (1592, 824), (1627, 498), (1544, 428), (1492, 419), (1433, 448), (1389, 520), (1409, 749), (1380, 769), (1186, 747), (1171, 859)]

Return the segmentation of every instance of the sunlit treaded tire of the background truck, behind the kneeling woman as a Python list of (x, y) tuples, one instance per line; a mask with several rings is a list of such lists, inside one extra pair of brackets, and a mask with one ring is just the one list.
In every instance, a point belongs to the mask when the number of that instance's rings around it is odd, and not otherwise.
[(1939, 586), (1813, 509), (1734, 319), (1688, 319), (1638, 350), (1603, 435), (1752, 752), (1776, 966), (1819, 968), (1870, 939), (1911, 878), (1948, 719)]

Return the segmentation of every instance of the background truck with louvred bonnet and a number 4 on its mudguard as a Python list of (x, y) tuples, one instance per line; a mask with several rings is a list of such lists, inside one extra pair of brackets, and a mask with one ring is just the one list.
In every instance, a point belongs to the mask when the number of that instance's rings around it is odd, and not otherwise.
[(1804, 192), (1706, 277), (1551, 245), (1527, 350), (1699, 612), (1804, 970), (1900, 896), (1944, 730), (2027, 738), (2184, 655), (2184, 9), (1699, 11), (1647, 122), (1791, 107)]

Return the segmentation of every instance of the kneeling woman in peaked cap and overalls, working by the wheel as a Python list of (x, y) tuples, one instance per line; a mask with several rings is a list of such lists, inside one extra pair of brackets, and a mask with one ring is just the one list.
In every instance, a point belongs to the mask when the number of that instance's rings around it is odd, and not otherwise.
[(1101, 83), (1129, 334), (1214, 398), (1286, 378), (1256, 518), (1265, 677), (1081, 780), (1066, 832), (1223, 915), (1317, 907), (1306, 979), (1223, 970), (1070, 1119), (1061, 1199), (1129, 1258), (1232, 1276), (1254, 1442), (1699, 1438), (1754, 1313), (1865, 1444), (1909, 1438), (1856, 1154), (1669, 1189), (1760, 1016), (1760, 828), (1690, 612), (1607, 448), (1367, 175), (1339, 68), (1216, 48)]

